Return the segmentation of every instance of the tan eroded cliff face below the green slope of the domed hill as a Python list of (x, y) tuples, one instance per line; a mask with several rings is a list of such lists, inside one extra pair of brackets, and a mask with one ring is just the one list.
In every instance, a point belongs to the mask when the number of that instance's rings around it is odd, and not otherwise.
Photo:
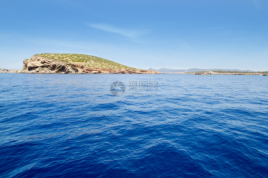
[(33, 56), (23, 60), (23, 68), (19, 73), (69, 73), (69, 74), (159, 74), (157, 71), (139, 69), (103, 69), (70, 64), (68, 62), (50, 60), (46, 57)]

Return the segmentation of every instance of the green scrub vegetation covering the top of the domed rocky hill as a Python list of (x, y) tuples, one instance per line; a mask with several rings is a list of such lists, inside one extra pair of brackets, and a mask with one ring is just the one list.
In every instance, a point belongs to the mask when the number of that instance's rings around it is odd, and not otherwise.
[(85, 54), (42, 53), (36, 54), (34, 56), (46, 57), (54, 61), (69, 62), (88, 67), (99, 67), (106, 69), (136, 69), (133, 67), (124, 66), (122, 64), (107, 59)]

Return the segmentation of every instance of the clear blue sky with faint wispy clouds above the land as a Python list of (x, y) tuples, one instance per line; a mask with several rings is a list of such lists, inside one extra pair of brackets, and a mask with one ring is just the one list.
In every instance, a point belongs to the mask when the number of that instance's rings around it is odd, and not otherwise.
[(1, 0), (0, 68), (22, 69), (39, 53), (268, 71), (268, 0)]

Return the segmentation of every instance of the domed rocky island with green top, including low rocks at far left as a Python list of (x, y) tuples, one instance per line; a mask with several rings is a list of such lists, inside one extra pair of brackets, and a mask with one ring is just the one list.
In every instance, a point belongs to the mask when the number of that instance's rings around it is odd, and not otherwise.
[(38, 74), (159, 74), (85, 54), (36, 54), (23, 60), (22, 70), (0, 69), (0, 73)]

